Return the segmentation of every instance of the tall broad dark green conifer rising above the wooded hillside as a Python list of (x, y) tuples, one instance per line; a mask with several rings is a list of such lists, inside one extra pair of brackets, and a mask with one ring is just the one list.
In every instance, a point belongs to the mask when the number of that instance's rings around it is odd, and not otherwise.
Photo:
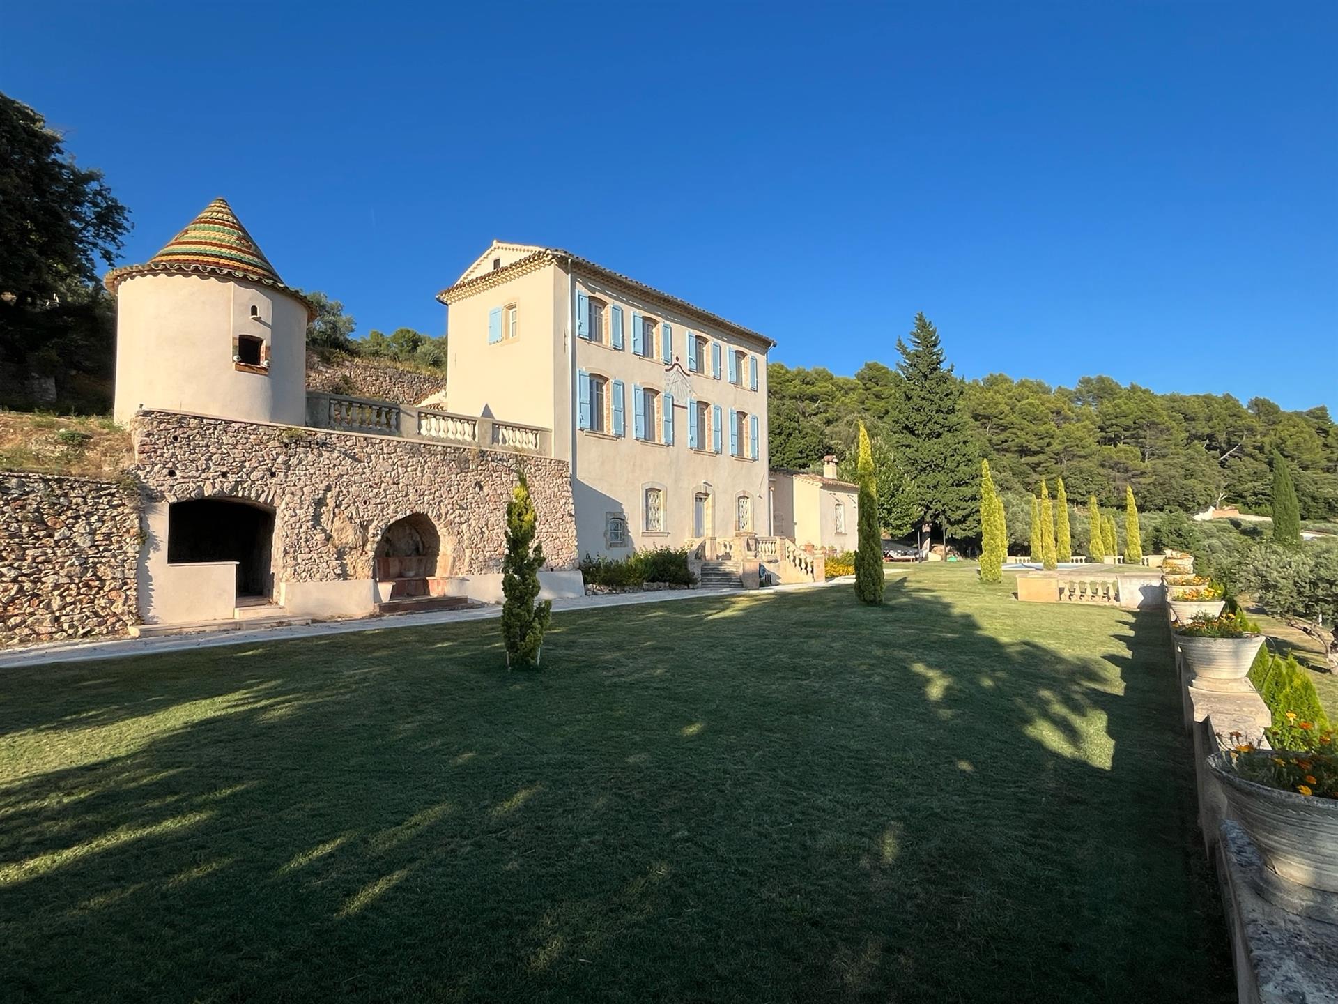
[(970, 422), (962, 408), (962, 382), (943, 365), (938, 329), (915, 315), (910, 345), (896, 340), (902, 361), (888, 432), (896, 461), (914, 487), (921, 519), (937, 523), (943, 535), (974, 534), (977, 529), (978, 456)]

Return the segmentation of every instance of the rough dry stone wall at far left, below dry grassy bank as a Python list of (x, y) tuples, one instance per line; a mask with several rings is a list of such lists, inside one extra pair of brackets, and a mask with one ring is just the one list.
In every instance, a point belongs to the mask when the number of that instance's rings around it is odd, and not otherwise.
[(124, 633), (138, 554), (132, 487), (0, 474), (0, 647)]

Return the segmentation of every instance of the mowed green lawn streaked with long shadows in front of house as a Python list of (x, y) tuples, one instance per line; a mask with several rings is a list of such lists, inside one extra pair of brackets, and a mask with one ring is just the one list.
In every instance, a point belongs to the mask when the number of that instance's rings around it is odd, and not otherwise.
[(0, 673), (28, 1000), (1234, 1000), (1159, 614), (969, 568)]

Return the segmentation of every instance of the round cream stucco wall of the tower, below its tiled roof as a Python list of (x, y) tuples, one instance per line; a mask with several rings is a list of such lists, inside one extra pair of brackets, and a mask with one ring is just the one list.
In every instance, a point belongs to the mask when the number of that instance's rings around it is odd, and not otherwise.
[[(269, 345), (268, 372), (235, 367), (237, 335)], [(302, 424), (306, 308), (241, 280), (171, 273), (124, 280), (116, 290), (115, 419), (127, 424), (140, 408)]]

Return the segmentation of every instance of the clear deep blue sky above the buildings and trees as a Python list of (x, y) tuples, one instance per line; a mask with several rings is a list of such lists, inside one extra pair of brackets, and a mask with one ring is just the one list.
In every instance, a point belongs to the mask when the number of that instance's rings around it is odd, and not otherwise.
[(1338, 406), (1338, 5), (472, 7), (11, 5), (0, 88), (123, 261), (223, 195), (360, 333), (440, 333), (498, 237), (788, 364), (891, 364), (925, 311), (970, 378)]

